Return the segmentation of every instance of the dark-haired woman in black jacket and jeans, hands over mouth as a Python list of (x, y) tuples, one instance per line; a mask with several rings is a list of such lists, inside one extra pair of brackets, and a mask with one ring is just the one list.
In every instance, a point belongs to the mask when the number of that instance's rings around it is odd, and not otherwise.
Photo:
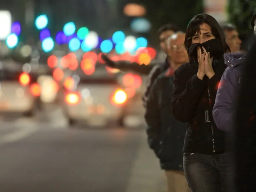
[(225, 132), (212, 120), (218, 83), (230, 52), (218, 22), (196, 15), (188, 24), (185, 46), (189, 63), (174, 74), (172, 113), (188, 122), (183, 166), (192, 192), (234, 192), (233, 163), (226, 151)]

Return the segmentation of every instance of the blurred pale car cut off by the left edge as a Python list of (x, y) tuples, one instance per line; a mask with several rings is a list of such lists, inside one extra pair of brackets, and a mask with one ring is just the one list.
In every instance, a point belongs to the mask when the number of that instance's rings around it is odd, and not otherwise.
[(22, 70), (0, 69), (0, 113), (33, 116), (39, 108), (41, 88), (37, 76)]

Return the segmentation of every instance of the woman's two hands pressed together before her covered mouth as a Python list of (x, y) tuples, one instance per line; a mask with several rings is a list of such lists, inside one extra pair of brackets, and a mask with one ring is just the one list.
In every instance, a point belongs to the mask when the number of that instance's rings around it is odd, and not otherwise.
[(201, 53), (200, 47), (197, 48), (197, 61), (198, 61), (198, 71), (197, 77), (203, 80), (206, 75), (209, 79), (215, 75), (215, 72), (212, 68), (212, 57), (210, 53), (206, 51), (203, 47), (204, 53)]

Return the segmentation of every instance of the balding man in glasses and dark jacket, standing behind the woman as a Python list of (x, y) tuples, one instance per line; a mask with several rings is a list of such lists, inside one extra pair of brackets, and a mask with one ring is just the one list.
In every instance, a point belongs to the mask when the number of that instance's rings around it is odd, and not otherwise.
[(169, 68), (154, 81), (146, 102), (148, 144), (165, 170), (168, 192), (188, 192), (183, 172), (183, 153), (187, 124), (177, 121), (170, 110), (174, 71), (188, 62), (184, 45), (185, 33), (178, 32), (167, 41), (167, 54), (172, 58)]

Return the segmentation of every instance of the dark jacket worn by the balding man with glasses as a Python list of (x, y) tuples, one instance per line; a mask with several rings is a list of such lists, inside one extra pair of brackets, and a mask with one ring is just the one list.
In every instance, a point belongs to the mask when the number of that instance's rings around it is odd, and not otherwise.
[(162, 73), (154, 81), (147, 100), (145, 120), (148, 144), (160, 159), (164, 170), (183, 170), (182, 147), (187, 124), (170, 112), (173, 77)]

